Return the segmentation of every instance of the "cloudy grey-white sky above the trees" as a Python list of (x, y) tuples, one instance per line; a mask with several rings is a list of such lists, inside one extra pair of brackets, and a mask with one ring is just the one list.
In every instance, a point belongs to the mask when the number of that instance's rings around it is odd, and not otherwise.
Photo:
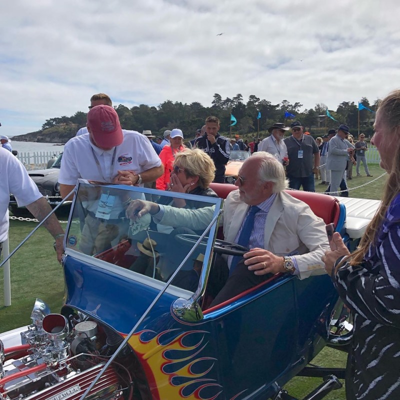
[[(12, 0), (0, 3), (0, 122), (241, 93), (303, 108), (400, 86), (398, 0)], [(218, 33), (223, 32), (222, 35)]]

